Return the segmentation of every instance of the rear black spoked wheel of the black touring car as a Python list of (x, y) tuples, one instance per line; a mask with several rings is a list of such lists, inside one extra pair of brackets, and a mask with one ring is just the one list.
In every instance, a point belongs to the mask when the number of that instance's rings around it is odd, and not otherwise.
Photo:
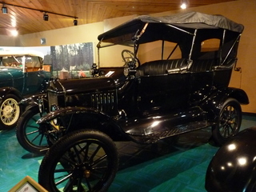
[(230, 137), (238, 134), (242, 122), (240, 103), (234, 98), (226, 99), (223, 103), (218, 121), (213, 126), (214, 143), (222, 146)]

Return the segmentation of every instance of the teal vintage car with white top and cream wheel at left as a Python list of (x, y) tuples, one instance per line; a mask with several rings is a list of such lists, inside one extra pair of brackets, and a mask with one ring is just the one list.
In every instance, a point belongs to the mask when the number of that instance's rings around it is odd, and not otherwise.
[(51, 74), (43, 70), (43, 57), (36, 51), (0, 51), (0, 130), (16, 126), (22, 98), (45, 89)]

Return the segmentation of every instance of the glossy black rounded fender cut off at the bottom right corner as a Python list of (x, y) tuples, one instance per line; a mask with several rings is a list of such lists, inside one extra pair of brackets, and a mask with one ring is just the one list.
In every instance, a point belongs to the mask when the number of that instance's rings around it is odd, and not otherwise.
[(214, 155), (206, 172), (209, 192), (256, 190), (256, 127), (241, 131)]

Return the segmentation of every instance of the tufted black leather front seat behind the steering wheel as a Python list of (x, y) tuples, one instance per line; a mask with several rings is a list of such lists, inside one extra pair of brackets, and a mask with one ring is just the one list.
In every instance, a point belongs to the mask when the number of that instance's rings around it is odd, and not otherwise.
[(141, 66), (138, 66), (137, 75), (146, 76), (168, 74), (171, 72), (177, 73), (180, 70), (186, 70), (188, 67), (186, 58), (145, 62)]

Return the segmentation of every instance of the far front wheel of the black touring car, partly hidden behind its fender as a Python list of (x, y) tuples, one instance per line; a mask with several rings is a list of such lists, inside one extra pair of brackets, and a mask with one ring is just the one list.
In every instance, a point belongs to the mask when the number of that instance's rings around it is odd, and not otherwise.
[(19, 144), (33, 154), (43, 154), (49, 148), (46, 138), (46, 128), (39, 126), (36, 122), (42, 114), (38, 106), (26, 110), (18, 120), (16, 137)]

